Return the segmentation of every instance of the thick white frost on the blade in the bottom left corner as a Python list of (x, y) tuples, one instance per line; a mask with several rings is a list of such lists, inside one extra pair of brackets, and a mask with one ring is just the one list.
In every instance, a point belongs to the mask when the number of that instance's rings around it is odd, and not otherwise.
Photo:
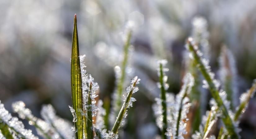
[[(4, 108), (4, 104), (0, 101), (0, 120), (7, 124), (16, 135), (25, 137), (26, 139), (38, 139), (31, 130), (25, 129), (24, 124), (17, 117), (12, 117), (11, 114)], [(2, 133), (0, 134), (0, 137)], [(1, 137), (2, 139), (2, 137)]]

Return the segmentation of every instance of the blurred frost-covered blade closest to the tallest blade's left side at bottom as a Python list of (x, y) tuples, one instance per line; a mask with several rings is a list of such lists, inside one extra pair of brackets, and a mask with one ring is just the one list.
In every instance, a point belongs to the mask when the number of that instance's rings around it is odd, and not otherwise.
[(71, 132), (71, 123), (67, 120), (56, 116), (56, 112), (51, 104), (43, 105), (41, 109), (41, 116), (50, 125), (52, 125), (56, 132), (66, 139), (70, 138), (74, 133)]

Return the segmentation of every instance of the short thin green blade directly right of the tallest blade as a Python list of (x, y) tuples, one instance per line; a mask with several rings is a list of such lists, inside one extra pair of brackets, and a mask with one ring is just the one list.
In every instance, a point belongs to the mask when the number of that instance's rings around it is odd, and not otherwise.
[(89, 91), (88, 91), (88, 111), (87, 111), (87, 122), (86, 122), (86, 129), (87, 129), (87, 139), (93, 139), (93, 130), (92, 130), (92, 99), (91, 99), (91, 90), (92, 90), (92, 82), (90, 83)]

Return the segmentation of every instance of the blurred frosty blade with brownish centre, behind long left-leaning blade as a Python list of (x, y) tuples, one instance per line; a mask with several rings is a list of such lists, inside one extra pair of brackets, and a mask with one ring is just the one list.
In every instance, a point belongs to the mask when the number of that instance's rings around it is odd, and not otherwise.
[[(236, 71), (236, 62), (232, 52), (226, 47), (223, 46), (221, 49), (221, 54), (219, 57), (219, 77), (221, 83), (224, 85), (223, 89), (231, 90), (232, 94), (232, 107), (236, 107), (238, 105), (238, 89), (237, 89), (237, 71)], [(226, 88), (230, 87), (230, 88)]]

